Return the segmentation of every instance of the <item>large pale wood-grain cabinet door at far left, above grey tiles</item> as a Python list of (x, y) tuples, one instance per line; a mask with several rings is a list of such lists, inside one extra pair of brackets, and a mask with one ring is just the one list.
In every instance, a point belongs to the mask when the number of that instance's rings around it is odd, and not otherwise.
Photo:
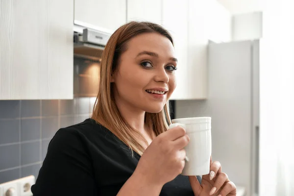
[(73, 98), (73, 1), (0, 3), (0, 99)]

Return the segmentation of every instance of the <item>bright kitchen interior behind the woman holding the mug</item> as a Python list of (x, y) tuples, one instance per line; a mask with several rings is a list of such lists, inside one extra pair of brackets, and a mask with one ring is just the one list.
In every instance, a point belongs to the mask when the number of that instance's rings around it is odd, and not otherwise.
[(279, 2), (1, 1), (0, 184), (37, 178), (55, 132), (91, 117), (109, 36), (140, 20), (171, 32), (172, 119), (212, 117), (237, 196), (293, 196), (294, 6)]

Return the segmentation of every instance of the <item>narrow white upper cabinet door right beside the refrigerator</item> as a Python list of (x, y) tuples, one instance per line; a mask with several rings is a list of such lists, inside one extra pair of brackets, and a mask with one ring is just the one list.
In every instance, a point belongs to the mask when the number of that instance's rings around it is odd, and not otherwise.
[(207, 10), (208, 3), (189, 0), (186, 99), (207, 98)]

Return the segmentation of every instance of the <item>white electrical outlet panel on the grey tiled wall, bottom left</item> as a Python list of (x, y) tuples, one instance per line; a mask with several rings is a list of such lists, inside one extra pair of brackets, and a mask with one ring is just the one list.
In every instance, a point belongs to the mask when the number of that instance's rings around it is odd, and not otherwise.
[(5, 182), (0, 184), (0, 196), (32, 196), (30, 188), (33, 184), (35, 184), (33, 175)]

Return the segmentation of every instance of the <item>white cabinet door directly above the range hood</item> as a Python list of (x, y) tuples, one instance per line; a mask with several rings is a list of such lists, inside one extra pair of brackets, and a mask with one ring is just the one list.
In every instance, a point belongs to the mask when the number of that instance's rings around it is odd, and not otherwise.
[(74, 20), (115, 31), (126, 22), (126, 0), (74, 0)]

